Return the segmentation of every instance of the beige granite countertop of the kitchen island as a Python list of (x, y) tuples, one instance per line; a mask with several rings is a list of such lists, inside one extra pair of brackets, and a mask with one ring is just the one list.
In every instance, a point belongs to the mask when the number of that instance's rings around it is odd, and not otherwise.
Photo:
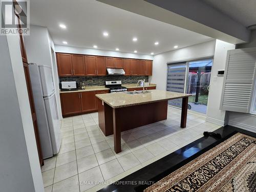
[(110, 105), (112, 108), (122, 108), (156, 101), (189, 97), (191, 94), (175, 93), (162, 90), (150, 90), (150, 93), (129, 95), (127, 93), (97, 94), (96, 97)]

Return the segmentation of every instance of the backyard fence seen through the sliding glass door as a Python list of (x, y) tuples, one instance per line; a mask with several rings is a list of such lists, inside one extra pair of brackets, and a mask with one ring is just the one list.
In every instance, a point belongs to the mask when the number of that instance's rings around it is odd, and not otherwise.
[[(210, 84), (210, 74), (211, 72), (208, 73), (203, 73), (200, 78), (200, 93), (201, 94), (206, 94), (207, 92), (207, 87)], [(197, 73), (188, 73), (188, 80), (187, 80), (187, 93), (188, 94), (196, 94), (197, 91)]]

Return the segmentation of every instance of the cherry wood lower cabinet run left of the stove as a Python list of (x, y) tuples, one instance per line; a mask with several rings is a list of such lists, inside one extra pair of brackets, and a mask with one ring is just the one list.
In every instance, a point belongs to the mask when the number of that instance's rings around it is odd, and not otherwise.
[(97, 112), (96, 94), (109, 93), (109, 90), (81, 91), (74, 93), (60, 93), (63, 117)]

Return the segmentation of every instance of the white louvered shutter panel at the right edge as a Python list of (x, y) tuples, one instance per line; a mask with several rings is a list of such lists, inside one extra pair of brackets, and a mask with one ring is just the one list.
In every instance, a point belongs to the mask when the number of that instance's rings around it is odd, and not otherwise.
[(256, 65), (256, 52), (229, 52), (224, 91), (222, 93), (222, 110), (248, 113)]

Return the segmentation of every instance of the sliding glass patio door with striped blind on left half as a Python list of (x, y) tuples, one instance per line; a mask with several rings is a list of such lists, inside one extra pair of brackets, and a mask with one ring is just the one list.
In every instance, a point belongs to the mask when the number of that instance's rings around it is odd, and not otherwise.
[[(201, 59), (167, 65), (167, 91), (192, 94), (188, 109), (206, 114), (213, 59)], [(181, 108), (181, 99), (168, 101)]]

